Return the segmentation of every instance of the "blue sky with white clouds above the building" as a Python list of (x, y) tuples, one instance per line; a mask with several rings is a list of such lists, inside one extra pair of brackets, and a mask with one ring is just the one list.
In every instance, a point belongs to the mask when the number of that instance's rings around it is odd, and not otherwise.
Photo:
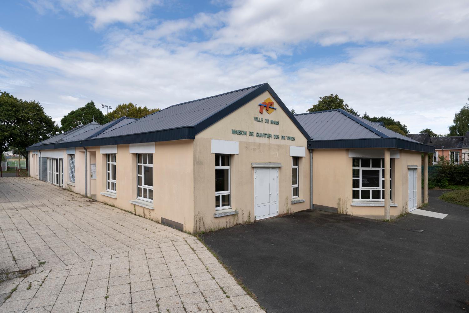
[(18, 0), (0, 11), (0, 90), (60, 122), (94, 100), (167, 107), (269, 82), (296, 112), (338, 94), (444, 134), (469, 96), (469, 3)]

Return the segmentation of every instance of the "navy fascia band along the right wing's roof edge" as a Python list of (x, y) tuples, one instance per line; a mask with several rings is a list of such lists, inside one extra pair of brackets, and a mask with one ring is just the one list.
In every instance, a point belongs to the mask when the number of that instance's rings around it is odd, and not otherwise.
[(393, 148), (411, 150), (421, 153), (435, 153), (435, 147), (401, 138), (361, 138), (337, 140), (309, 140), (308, 149), (366, 149), (366, 148)]

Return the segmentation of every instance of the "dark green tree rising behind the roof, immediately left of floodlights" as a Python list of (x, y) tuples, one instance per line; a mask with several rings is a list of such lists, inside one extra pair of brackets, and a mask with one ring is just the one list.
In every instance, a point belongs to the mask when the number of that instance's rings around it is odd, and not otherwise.
[(75, 127), (86, 125), (91, 122), (98, 122), (99, 124), (106, 124), (109, 119), (103, 115), (103, 112), (95, 107), (94, 102), (88, 102), (84, 107), (79, 107), (71, 111), (61, 119), (61, 131), (65, 132)]

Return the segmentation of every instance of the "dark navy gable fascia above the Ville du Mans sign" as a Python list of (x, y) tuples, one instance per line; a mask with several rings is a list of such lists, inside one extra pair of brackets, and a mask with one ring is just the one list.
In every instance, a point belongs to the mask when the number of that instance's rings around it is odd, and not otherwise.
[(271, 94), (272, 98), (279, 104), (282, 110), (288, 115), (290, 120), (302, 132), (303, 136), (306, 139), (310, 139), (310, 136), (308, 135), (306, 130), (303, 129), (303, 126), (301, 126), (300, 122), (296, 120), (295, 116), (290, 112), (290, 110), (288, 110), (287, 106), (285, 106), (283, 101), (279, 98), (279, 96), (277, 96), (277, 94), (273, 91), (272, 87), (268, 83), (262, 84), (256, 90), (253, 90), (252, 92), (248, 93), (244, 97), (234, 101), (231, 105), (207, 117), (204, 121), (199, 122), (195, 126), (196, 134), (212, 126), (214, 123), (218, 122), (219, 120), (229, 115), (230, 113), (233, 113), (235, 110), (239, 109), (240, 107), (242, 107), (243, 105), (245, 105), (246, 103), (248, 103), (249, 101), (253, 100), (254, 98), (256, 98), (257, 96), (261, 95), (263, 92), (266, 92), (266, 91)]

